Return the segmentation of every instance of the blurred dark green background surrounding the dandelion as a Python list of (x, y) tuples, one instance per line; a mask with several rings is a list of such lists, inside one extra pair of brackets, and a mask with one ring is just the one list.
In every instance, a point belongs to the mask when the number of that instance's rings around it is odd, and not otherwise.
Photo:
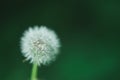
[(19, 42), (34, 25), (55, 30), (62, 44), (40, 80), (120, 80), (119, 0), (1, 0), (0, 80), (30, 80)]

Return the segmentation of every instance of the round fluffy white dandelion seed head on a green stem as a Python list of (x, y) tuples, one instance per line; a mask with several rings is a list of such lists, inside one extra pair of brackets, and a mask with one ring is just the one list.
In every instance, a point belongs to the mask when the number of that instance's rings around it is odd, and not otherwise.
[(56, 33), (45, 26), (34, 26), (26, 30), (21, 38), (21, 51), (37, 65), (46, 65), (54, 61), (59, 52), (60, 42)]

